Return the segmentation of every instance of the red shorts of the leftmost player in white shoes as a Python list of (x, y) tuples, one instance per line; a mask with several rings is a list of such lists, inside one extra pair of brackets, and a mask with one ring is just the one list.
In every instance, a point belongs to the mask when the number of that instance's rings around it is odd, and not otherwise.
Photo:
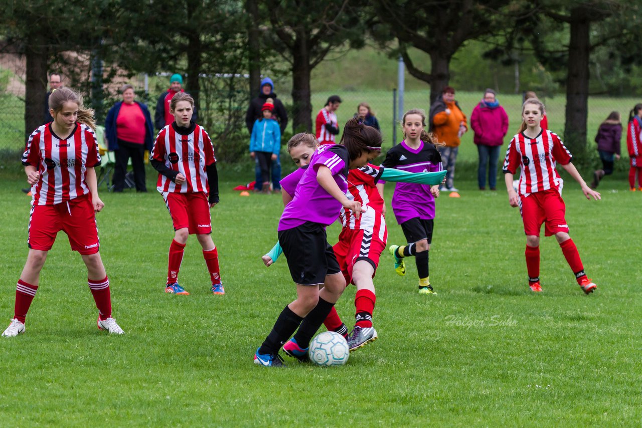
[(71, 249), (81, 254), (98, 253), (98, 228), (91, 196), (84, 195), (56, 205), (33, 205), (27, 244), (33, 250), (49, 251), (62, 230)]

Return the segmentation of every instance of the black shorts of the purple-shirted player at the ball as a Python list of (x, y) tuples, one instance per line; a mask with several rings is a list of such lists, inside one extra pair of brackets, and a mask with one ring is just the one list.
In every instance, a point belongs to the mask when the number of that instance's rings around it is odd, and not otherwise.
[(317, 286), (325, 282), (325, 275), (339, 273), (325, 228), (319, 223), (306, 221), (300, 226), (279, 232), (279, 243), (288, 259), (288, 268), (295, 284)]

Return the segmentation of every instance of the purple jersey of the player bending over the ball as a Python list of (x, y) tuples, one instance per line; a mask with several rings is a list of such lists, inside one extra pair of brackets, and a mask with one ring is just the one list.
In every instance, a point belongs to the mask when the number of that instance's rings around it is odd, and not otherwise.
[(348, 162), (348, 151), (338, 144), (322, 146), (315, 151), (297, 185), (294, 199), (281, 214), (279, 231), (300, 226), (306, 221), (331, 225), (338, 218), (342, 205), (318, 184), (317, 170), (321, 165), (328, 167), (334, 182), (345, 193), (348, 189)]

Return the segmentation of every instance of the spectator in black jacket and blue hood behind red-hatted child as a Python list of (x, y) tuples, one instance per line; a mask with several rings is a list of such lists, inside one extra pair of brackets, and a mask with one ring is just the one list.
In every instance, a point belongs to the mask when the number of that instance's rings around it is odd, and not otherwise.
[[(247, 130), (252, 135), (252, 128), (256, 119), (263, 117), (263, 105), (266, 103), (268, 98), (272, 98), (274, 109), (272, 111), (272, 119), (275, 119), (279, 123), (279, 128), (281, 130), (281, 135), (285, 132), (286, 126), (288, 126), (288, 112), (286, 112), (281, 99), (277, 98), (277, 94), (274, 93), (274, 83), (269, 77), (261, 80), (261, 91), (259, 96), (250, 101), (250, 107), (247, 108), (247, 114), (245, 114), (245, 125)], [(279, 142), (279, 153), (277, 153), (276, 160), (272, 160), (272, 187), (275, 191), (281, 190), (281, 142)], [(256, 183), (254, 184), (254, 189), (256, 191), (261, 191), (263, 188), (263, 181), (261, 178), (261, 168), (257, 165), (254, 170), (254, 175), (256, 176)]]

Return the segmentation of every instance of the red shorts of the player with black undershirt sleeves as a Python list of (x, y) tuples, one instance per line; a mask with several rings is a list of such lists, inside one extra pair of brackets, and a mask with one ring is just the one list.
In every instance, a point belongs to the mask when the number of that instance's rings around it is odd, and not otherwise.
[(163, 192), (162, 197), (174, 223), (174, 230), (186, 227), (189, 234), (212, 233), (212, 218), (209, 216), (209, 202), (205, 193)]

